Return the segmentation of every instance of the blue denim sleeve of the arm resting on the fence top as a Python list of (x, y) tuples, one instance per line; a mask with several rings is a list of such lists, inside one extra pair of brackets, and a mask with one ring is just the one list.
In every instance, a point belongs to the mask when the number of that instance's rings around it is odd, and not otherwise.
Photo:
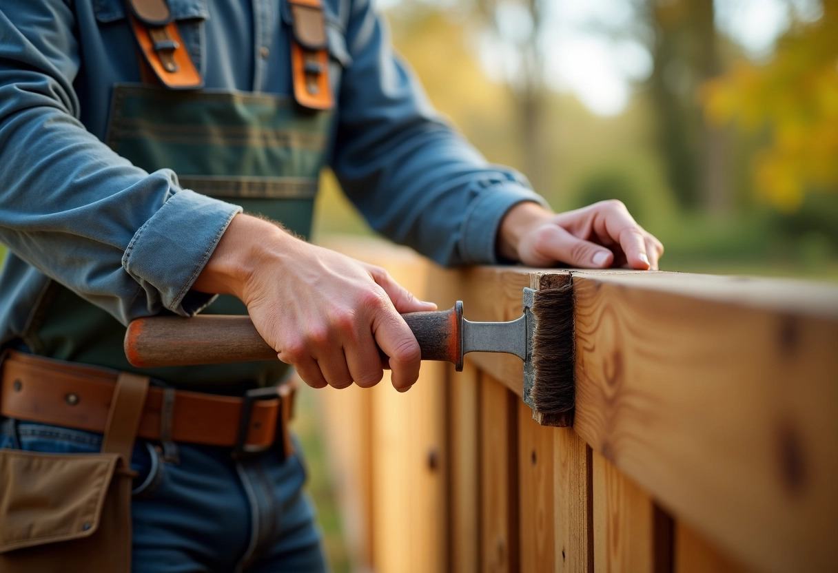
[(369, 0), (352, 3), (346, 38), (332, 158), (344, 192), (375, 230), (442, 265), (496, 262), (504, 214), (544, 199), (433, 110)]

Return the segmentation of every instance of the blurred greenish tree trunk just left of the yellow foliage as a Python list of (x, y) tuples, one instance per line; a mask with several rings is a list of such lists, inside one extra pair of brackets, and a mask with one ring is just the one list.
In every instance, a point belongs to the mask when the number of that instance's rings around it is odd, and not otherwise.
[(727, 137), (703, 121), (697, 96), (701, 84), (721, 71), (713, 3), (646, 0), (645, 10), (654, 31), (650, 96), (670, 185), (682, 207), (725, 212)]

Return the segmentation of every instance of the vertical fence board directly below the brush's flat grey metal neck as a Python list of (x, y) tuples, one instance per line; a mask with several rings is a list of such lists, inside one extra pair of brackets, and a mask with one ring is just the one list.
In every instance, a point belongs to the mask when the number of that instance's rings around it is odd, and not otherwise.
[(517, 401), (487, 374), (480, 379), (480, 564), (486, 573), (518, 567)]

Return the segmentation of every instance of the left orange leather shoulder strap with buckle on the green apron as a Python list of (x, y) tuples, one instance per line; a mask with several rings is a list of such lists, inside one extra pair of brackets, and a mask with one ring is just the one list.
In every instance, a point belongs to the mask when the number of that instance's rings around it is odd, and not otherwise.
[(126, 0), (128, 18), (143, 59), (160, 82), (172, 90), (204, 85), (165, 0)]

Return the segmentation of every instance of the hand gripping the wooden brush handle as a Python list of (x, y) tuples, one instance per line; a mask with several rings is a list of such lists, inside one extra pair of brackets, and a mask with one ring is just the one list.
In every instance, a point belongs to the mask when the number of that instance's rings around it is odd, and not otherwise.
[(246, 214), (235, 215), (193, 288), (241, 298), (277, 357), (314, 388), (372, 386), (389, 366), (396, 390), (409, 389), (421, 351), (400, 313), (436, 309), (384, 269)]

